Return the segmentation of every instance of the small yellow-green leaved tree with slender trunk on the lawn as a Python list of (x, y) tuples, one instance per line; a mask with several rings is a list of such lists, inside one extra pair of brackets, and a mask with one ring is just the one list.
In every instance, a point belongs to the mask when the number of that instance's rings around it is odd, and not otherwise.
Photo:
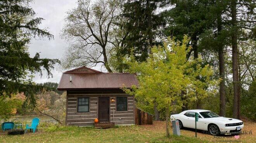
[(169, 38), (163, 46), (152, 47), (145, 62), (138, 63), (132, 56), (125, 61), (128, 71), (137, 74), (139, 87), (124, 90), (135, 95), (137, 101), (144, 100), (149, 105), (156, 101), (157, 108), (165, 109), (166, 136), (170, 136), (170, 111), (182, 108), (184, 96), (186, 102), (206, 98), (215, 92), (219, 82), (211, 79), (213, 70), (202, 65), (201, 57), (187, 60), (192, 49), (189, 41), (186, 35), (182, 42)]

